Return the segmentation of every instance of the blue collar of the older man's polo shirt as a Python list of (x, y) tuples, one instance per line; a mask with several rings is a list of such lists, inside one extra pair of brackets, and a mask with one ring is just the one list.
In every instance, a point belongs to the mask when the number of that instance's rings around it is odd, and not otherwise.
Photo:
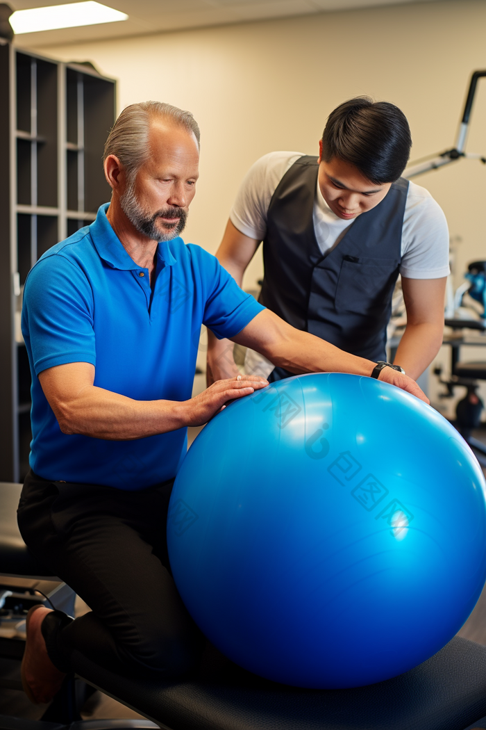
[[(95, 222), (90, 225), (91, 238), (98, 251), (98, 255), (112, 269), (120, 269), (122, 271), (140, 269), (140, 266), (128, 255), (117, 234), (111, 228), (111, 224), (108, 218), (106, 218), (108, 208), (109, 203), (101, 205), (98, 208)], [(157, 247), (157, 257), (164, 262), (165, 266), (173, 266), (173, 264), (177, 263), (169, 243), (168, 241), (160, 241)]]

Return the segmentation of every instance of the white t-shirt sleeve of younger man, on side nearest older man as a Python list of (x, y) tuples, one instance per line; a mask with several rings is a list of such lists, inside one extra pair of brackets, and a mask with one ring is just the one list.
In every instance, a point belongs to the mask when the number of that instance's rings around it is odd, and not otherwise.
[(267, 232), (267, 211), (283, 175), (301, 152), (270, 152), (248, 170), (240, 185), (230, 220), (240, 233), (262, 241)]

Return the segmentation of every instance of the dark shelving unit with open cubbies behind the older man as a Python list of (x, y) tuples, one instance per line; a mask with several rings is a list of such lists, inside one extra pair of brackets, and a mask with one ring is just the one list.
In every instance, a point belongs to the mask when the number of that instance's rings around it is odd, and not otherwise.
[(0, 39), (0, 481), (28, 470), (31, 376), (20, 332), (23, 285), (37, 259), (87, 226), (111, 191), (103, 145), (115, 82)]

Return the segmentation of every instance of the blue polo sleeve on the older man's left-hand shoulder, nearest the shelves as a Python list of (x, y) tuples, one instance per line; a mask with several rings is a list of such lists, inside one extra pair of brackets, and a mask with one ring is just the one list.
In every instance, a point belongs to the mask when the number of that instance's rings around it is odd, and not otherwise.
[(42, 258), (28, 274), (22, 334), (36, 375), (55, 365), (96, 364), (93, 293), (82, 269), (63, 255)]

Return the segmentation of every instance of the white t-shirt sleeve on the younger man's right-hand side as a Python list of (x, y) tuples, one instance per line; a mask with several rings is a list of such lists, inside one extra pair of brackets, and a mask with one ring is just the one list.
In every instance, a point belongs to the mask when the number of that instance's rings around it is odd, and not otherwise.
[(426, 188), (412, 182), (404, 213), (400, 274), (407, 279), (440, 279), (450, 274), (444, 212)]

